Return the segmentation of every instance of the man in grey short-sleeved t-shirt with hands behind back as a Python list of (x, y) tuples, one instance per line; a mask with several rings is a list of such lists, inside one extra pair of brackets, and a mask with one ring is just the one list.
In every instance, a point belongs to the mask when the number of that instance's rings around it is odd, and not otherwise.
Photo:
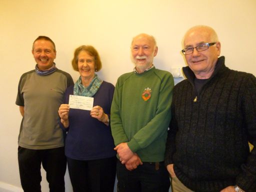
[(41, 164), (50, 191), (65, 191), (63, 131), (58, 125), (58, 107), (71, 76), (56, 68), (54, 42), (38, 36), (32, 46), (35, 69), (21, 75), (16, 104), (22, 115), (18, 136), (18, 165), (23, 190), (41, 191)]

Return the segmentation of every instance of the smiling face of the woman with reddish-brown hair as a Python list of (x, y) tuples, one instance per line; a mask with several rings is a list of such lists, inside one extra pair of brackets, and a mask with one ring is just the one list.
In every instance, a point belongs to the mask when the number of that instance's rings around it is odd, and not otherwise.
[[(94, 56), (89, 55), (82, 50), (77, 56), (78, 71), (84, 86), (87, 86), (95, 75), (95, 60)], [(85, 83), (84, 83), (85, 82)]]

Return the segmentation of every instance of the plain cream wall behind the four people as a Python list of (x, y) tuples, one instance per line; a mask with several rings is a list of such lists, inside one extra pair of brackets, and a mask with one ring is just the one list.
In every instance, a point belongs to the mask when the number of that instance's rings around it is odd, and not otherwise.
[[(129, 45), (134, 35), (154, 35), (158, 43), (154, 64), (170, 71), (185, 65), (180, 54), (184, 32), (206, 24), (219, 35), (226, 65), (255, 75), (255, 20), (255, 0), (0, 0), (0, 187), (14, 186), (10, 191), (20, 187), (21, 116), (15, 99), (20, 75), (34, 68), (31, 45), (38, 35), (53, 39), (57, 67), (74, 80), (78, 73), (70, 65), (73, 50), (93, 45), (103, 63), (99, 76), (115, 84), (120, 74), (133, 68)], [(66, 181), (71, 191), (68, 175)], [(42, 191), (48, 191), (45, 176)]]

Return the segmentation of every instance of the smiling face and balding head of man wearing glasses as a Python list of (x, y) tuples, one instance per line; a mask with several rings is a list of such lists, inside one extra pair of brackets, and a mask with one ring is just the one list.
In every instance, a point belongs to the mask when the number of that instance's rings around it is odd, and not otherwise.
[[(195, 47), (202, 43), (214, 42), (214, 31), (210, 28), (197, 27), (189, 30), (184, 36), (184, 48)], [(220, 42), (209, 46), (204, 51), (193, 49), (191, 54), (186, 54), (185, 59), (196, 78), (209, 78), (214, 71), (217, 58), (220, 54)]]

